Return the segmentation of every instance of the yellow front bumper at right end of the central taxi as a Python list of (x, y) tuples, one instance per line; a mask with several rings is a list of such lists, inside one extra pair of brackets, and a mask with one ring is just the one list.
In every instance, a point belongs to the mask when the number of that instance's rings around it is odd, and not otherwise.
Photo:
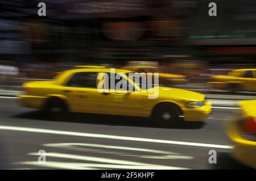
[(212, 112), (212, 104), (205, 103), (203, 107), (200, 108), (184, 108), (184, 120), (185, 121), (203, 121)]

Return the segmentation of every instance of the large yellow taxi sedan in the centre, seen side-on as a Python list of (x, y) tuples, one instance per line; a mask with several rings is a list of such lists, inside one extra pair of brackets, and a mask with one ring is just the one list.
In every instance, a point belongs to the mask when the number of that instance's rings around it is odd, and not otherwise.
[[(84, 112), (151, 117), (154, 123), (167, 126), (183, 121), (203, 121), (211, 112), (205, 95), (158, 85), (142, 90), (143, 87), (127, 75), (131, 73), (129, 70), (115, 69), (115, 76), (122, 73), (129, 90), (101, 92), (97, 85), (98, 75), (102, 73), (110, 74), (111, 69), (71, 69), (52, 81), (24, 83), (26, 94), (19, 95), (19, 103), (50, 114)], [(149, 99), (152, 92), (158, 92), (158, 96)]]

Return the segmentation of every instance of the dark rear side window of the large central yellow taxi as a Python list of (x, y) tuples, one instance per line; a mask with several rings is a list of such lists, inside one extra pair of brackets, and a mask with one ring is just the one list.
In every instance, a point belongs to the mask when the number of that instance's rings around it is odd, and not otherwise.
[(85, 87), (85, 88), (95, 88), (96, 89), (96, 72), (80, 72), (73, 75), (69, 79), (68, 87)]

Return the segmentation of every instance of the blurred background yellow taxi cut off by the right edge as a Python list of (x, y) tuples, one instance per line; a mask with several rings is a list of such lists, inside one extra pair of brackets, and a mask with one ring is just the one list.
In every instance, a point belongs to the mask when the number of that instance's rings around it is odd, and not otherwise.
[(229, 91), (256, 91), (256, 69), (234, 69), (228, 75), (213, 75), (209, 85)]

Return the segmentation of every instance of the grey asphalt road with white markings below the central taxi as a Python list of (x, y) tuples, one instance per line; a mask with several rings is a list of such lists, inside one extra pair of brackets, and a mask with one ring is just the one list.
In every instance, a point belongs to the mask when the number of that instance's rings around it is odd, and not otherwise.
[[(134, 117), (72, 114), (51, 120), (14, 98), (0, 98), (0, 168), (247, 169), (230, 157), (232, 143), (223, 131), (236, 111), (214, 108), (203, 124), (157, 128)], [(39, 150), (46, 151), (46, 162)], [(208, 162), (209, 150), (217, 151), (216, 164)]]

